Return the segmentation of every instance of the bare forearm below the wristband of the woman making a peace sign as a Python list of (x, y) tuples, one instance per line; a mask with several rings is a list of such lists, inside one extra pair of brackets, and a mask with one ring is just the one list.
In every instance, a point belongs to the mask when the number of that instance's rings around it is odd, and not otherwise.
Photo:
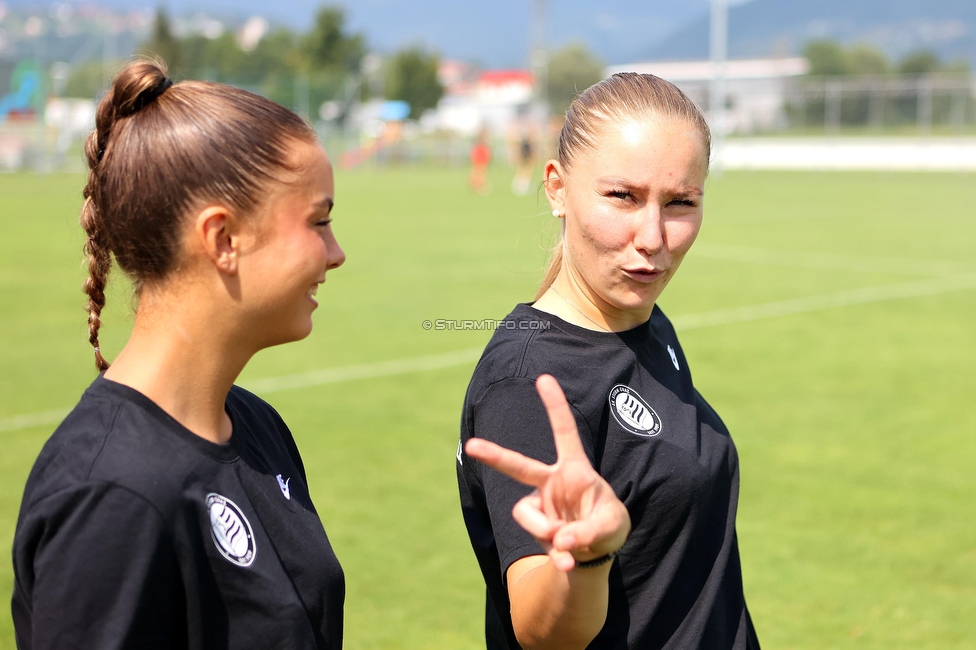
[[(567, 573), (548, 556), (519, 562), (536, 561), (524, 573), (518, 563), (509, 569), (512, 624), (519, 644), (525, 650), (585, 648), (606, 622), (613, 563)], [(512, 569), (520, 575), (512, 575)]]

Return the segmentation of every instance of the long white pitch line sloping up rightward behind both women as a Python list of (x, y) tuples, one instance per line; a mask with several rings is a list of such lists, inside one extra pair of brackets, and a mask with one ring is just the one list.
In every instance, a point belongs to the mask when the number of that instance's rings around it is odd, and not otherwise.
[[(952, 278), (938, 278), (922, 282), (908, 282), (905, 284), (890, 284), (881, 287), (865, 287), (863, 289), (851, 289), (848, 291), (769, 302), (749, 307), (733, 307), (731, 309), (718, 309), (699, 314), (686, 314), (672, 318), (671, 322), (674, 324), (675, 329), (687, 331), (702, 327), (742, 323), (776, 316), (790, 316), (849, 305), (882, 302), (885, 300), (931, 296), (939, 293), (973, 288), (976, 288), (976, 274), (961, 275)], [(393, 377), (424, 370), (452, 368), (471, 363), (478, 360), (482, 351), (482, 348), (469, 348), (467, 350), (433, 354), (426, 357), (326, 368), (324, 370), (313, 370), (311, 372), (285, 375), (283, 377), (257, 379), (245, 383), (244, 387), (255, 393), (267, 394), (294, 388), (308, 388), (310, 386), (353, 381), (355, 379)], [(70, 409), (59, 409), (0, 419), (0, 432), (57, 424), (64, 419), (69, 411)]]

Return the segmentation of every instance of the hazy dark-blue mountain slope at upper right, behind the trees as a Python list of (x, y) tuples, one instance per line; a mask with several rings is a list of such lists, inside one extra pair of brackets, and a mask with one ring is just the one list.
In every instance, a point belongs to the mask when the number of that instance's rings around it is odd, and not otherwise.
[[(729, 12), (732, 58), (797, 54), (811, 39), (871, 43), (899, 57), (930, 49), (976, 67), (976, 0), (754, 0)], [(708, 57), (702, 15), (634, 60)]]

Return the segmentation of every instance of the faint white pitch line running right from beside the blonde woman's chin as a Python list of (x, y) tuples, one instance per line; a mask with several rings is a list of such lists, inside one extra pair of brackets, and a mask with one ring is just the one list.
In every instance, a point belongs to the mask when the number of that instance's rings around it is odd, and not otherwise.
[(890, 273), (896, 275), (958, 275), (972, 273), (971, 265), (958, 262), (933, 262), (930, 260), (857, 257), (836, 253), (803, 253), (799, 251), (774, 251), (748, 246), (730, 246), (698, 242), (691, 251), (692, 256), (709, 259), (745, 262), (747, 264), (769, 264), (804, 269), (823, 269), (827, 271), (857, 271), (864, 273)]

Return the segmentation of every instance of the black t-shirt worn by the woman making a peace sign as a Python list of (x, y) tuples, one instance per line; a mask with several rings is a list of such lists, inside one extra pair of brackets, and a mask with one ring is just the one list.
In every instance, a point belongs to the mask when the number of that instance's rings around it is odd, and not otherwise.
[[(664, 313), (655, 307), (647, 323), (607, 333), (518, 305), (468, 386), (461, 444), (485, 438), (555, 462), (535, 390), (544, 373), (562, 386), (590, 461), (632, 523), (610, 571), (606, 624), (589, 647), (758, 649), (736, 543), (735, 447), (695, 390)], [(488, 648), (518, 648), (505, 572), (543, 552), (512, 519), (512, 507), (531, 488), (461, 449), (457, 469), (464, 522), (488, 587)]]

